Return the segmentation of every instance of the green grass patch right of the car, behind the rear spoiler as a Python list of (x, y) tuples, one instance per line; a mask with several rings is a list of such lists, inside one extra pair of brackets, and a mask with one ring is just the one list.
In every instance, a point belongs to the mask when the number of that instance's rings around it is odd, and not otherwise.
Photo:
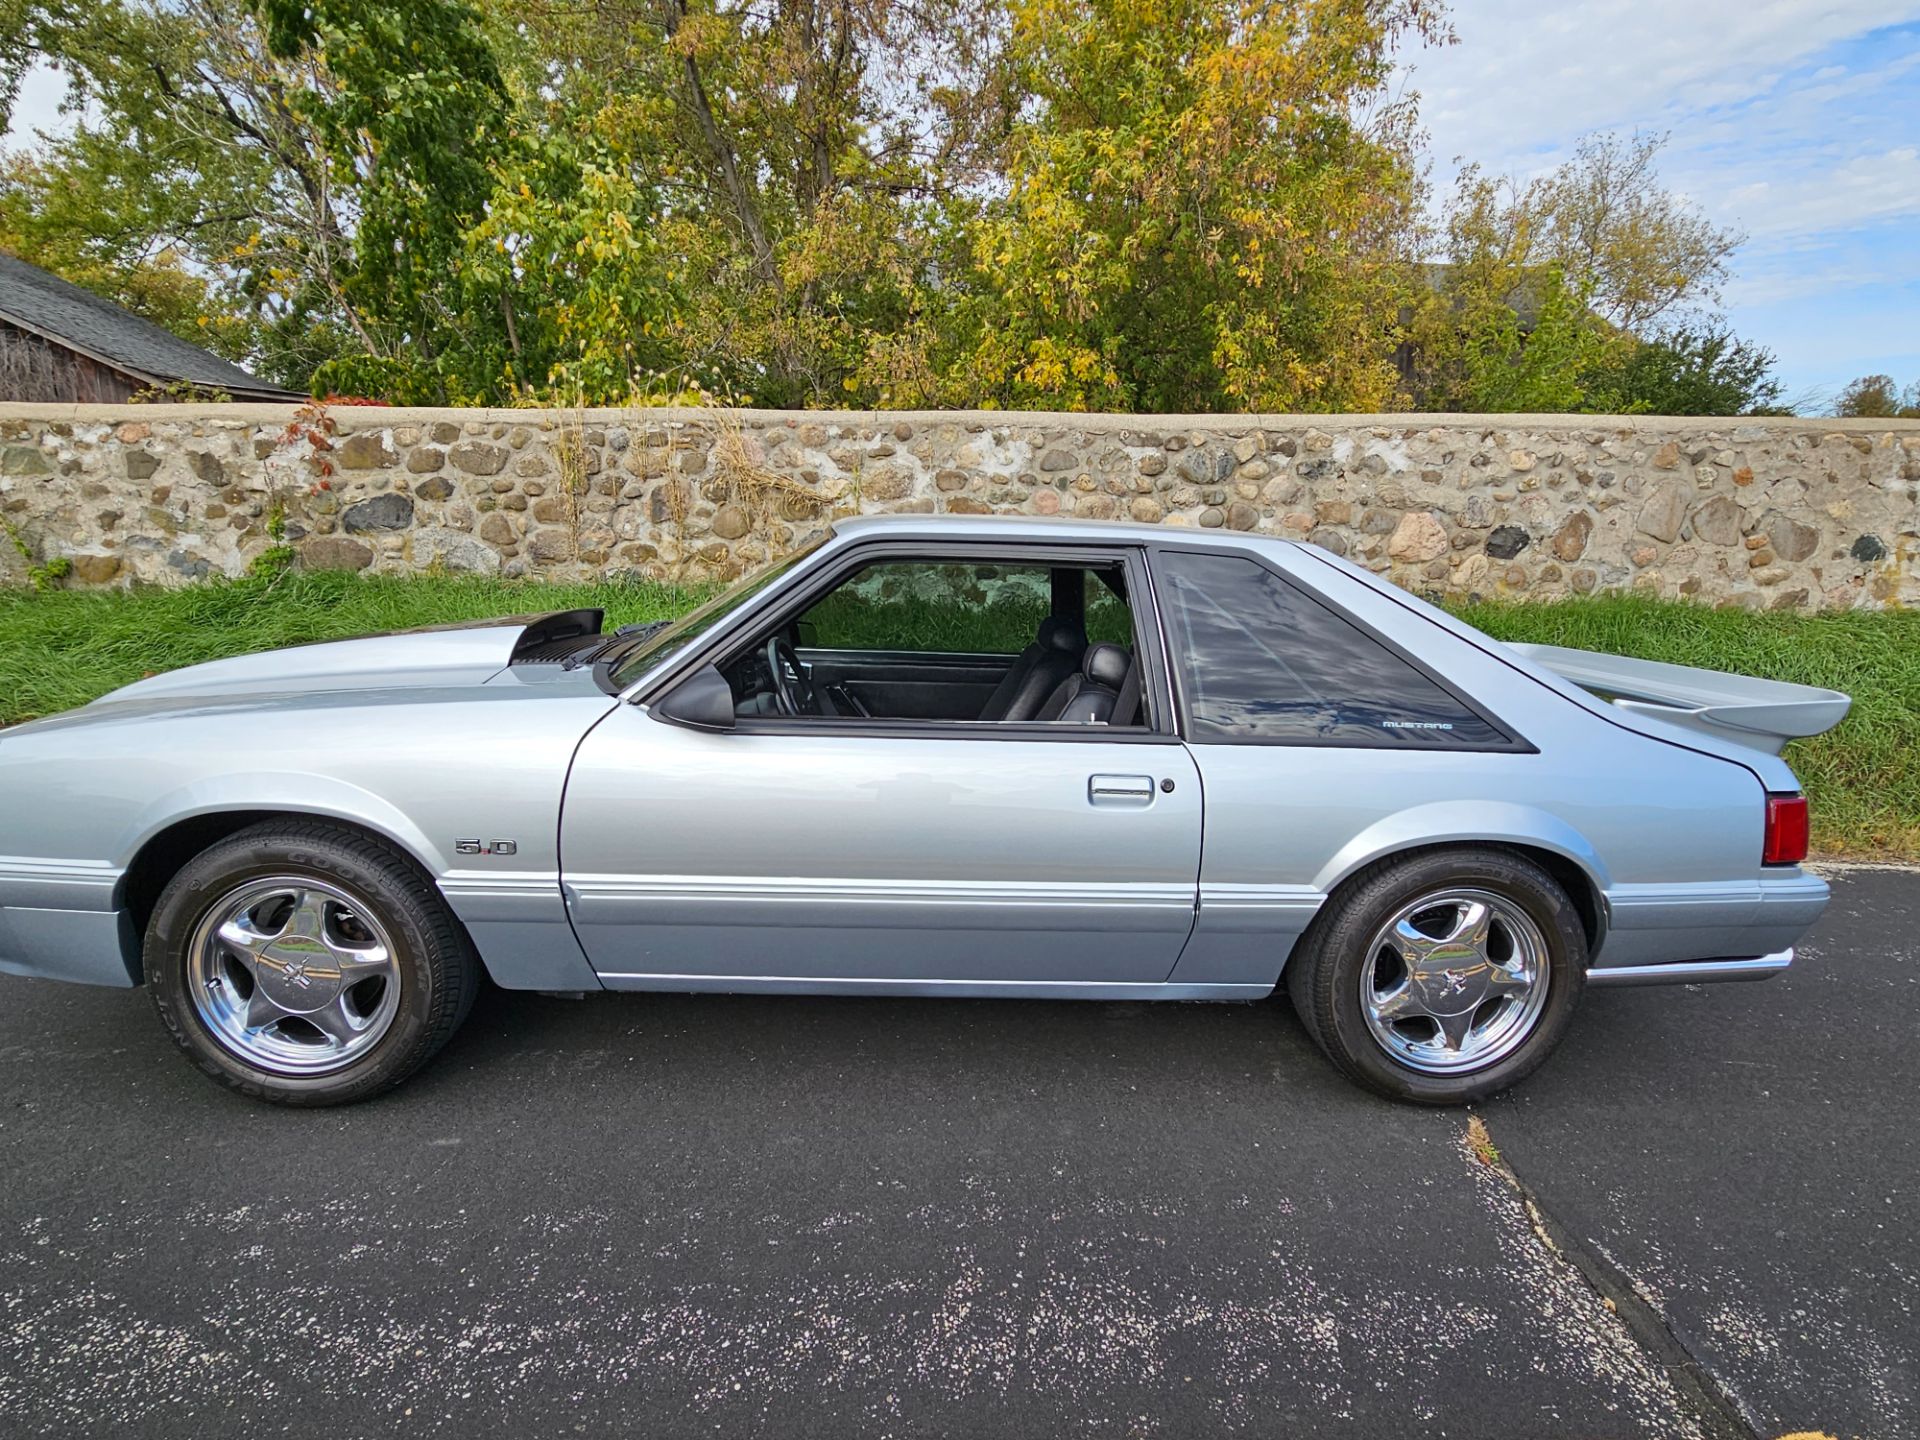
[(1455, 607), (1500, 639), (1826, 685), (1853, 710), (1791, 741), (1822, 854), (1920, 856), (1920, 612), (1749, 614), (1634, 595)]

